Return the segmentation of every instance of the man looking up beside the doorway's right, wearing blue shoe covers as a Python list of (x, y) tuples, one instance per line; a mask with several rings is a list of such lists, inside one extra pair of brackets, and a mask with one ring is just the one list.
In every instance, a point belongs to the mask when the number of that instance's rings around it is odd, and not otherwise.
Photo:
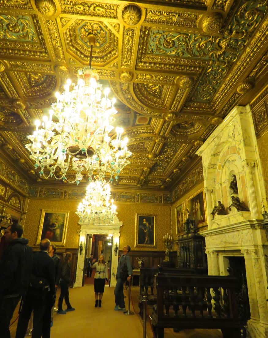
[[(116, 272), (116, 286), (115, 286), (115, 311), (125, 311), (125, 301), (124, 301), (124, 292), (123, 287), (124, 283), (127, 280), (128, 282), (132, 276), (132, 267), (130, 264), (129, 251), (130, 246), (126, 245), (123, 247), (123, 254), (121, 255), (118, 261), (118, 267)], [(128, 275), (123, 276), (124, 271)]]

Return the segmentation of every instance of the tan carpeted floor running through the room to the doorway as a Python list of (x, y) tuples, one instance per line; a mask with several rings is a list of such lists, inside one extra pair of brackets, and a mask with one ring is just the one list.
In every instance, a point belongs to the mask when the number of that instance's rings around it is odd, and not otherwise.
[[(95, 308), (94, 286), (86, 285), (82, 288), (69, 289), (70, 302), (75, 311), (66, 315), (54, 313), (51, 338), (142, 338), (143, 322), (139, 315), (125, 315), (121, 311), (114, 311), (114, 288), (105, 287), (101, 308)], [(136, 312), (138, 307), (139, 288), (131, 290), (133, 305)], [(125, 291), (128, 296), (128, 292)], [(59, 296), (59, 290), (57, 299)], [(57, 302), (56, 302), (57, 303)], [(125, 298), (126, 307), (128, 298)], [(18, 314), (16, 309), (13, 321)], [(133, 312), (132, 304), (130, 310)], [(150, 309), (149, 309), (150, 311)], [(12, 321), (11, 321), (12, 323)], [(10, 327), (11, 338), (15, 337), (17, 322)], [(174, 333), (165, 329), (165, 338), (221, 338), (218, 330), (184, 330)], [(153, 338), (149, 319), (147, 320), (147, 338)]]

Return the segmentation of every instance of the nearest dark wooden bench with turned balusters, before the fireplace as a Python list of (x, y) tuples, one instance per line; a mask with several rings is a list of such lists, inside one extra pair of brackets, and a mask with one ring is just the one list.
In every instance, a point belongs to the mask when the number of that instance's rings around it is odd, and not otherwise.
[(223, 338), (240, 337), (246, 319), (235, 277), (161, 273), (156, 275), (156, 288), (150, 318), (157, 338), (164, 337), (164, 328), (221, 329)]

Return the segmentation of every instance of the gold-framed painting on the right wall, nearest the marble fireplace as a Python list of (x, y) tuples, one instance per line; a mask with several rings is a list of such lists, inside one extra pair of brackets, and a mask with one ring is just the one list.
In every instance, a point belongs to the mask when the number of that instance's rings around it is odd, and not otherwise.
[(187, 199), (187, 209), (190, 219), (195, 220), (197, 228), (207, 225), (205, 194), (202, 189)]

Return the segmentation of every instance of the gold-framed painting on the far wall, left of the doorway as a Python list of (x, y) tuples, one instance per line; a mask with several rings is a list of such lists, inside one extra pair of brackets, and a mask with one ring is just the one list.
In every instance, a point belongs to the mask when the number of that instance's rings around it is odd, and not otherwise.
[(39, 244), (48, 238), (51, 244), (64, 246), (67, 234), (69, 211), (51, 211), (42, 209), (37, 241)]

